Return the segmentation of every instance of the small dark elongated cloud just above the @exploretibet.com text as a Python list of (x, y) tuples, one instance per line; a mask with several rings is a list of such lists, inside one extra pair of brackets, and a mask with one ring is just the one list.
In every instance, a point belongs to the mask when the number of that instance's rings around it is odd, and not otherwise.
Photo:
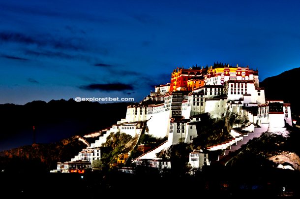
[(79, 88), (83, 90), (106, 91), (106, 92), (133, 90), (131, 84), (123, 84), (123, 83), (89, 84), (85, 86), (80, 86)]

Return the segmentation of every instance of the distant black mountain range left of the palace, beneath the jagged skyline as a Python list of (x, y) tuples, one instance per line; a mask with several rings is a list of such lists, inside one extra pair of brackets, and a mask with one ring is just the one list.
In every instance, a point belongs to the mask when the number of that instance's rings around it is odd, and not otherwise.
[(58, 142), (99, 131), (125, 118), (129, 103), (69, 100), (0, 104), (0, 151), (36, 143)]

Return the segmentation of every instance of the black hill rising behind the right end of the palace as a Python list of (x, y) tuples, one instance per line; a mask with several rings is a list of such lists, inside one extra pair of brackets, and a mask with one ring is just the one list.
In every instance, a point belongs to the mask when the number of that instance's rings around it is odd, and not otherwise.
[(300, 114), (298, 92), (296, 90), (299, 85), (299, 73), (300, 67), (268, 77), (260, 82), (260, 87), (265, 88), (266, 99), (283, 99), (285, 103), (291, 103), (291, 111), (295, 115)]

